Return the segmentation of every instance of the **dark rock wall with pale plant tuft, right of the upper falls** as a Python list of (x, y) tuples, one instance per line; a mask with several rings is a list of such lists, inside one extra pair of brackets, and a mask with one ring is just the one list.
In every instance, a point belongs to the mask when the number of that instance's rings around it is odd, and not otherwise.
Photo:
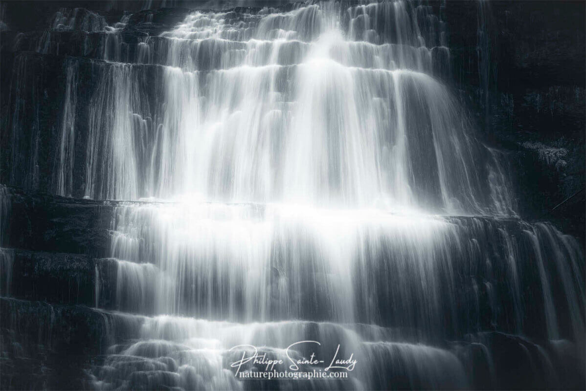
[(582, 243), (584, 12), (572, 1), (445, 6), (456, 84), (486, 141), (510, 151), (520, 214)]

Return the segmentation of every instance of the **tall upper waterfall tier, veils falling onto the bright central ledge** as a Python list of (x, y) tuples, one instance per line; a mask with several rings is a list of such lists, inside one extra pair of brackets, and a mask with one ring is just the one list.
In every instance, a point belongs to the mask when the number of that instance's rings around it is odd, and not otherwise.
[[(60, 54), (52, 35), (86, 31), (83, 53), (63, 67), (52, 191), (515, 215), (506, 159), (475, 140), (442, 84), (449, 50), (431, 6), (288, 8), (192, 11), (134, 43), (130, 31), (156, 24), (152, 11), (114, 26), (57, 12), (37, 52)], [(19, 87), (38, 66), (31, 56), (15, 58), (16, 140), (27, 121), (18, 95), (30, 93)]]

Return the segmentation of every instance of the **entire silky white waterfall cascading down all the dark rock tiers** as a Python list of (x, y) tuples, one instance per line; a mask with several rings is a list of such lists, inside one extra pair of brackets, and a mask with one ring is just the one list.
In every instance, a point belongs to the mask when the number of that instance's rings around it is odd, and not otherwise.
[[(124, 201), (96, 267), (96, 306), (114, 270), (119, 312), (92, 387), (263, 387), (230, 368), (243, 344), (357, 361), (348, 379), (270, 388), (498, 387), (503, 340), (548, 387), (552, 361), (584, 360), (580, 246), (517, 218), (503, 153), (446, 85), (431, 6), (193, 11), (131, 47), (120, 30), (139, 17), (52, 22), (98, 59), (67, 61), (53, 191)], [(47, 34), (36, 50), (57, 54)]]

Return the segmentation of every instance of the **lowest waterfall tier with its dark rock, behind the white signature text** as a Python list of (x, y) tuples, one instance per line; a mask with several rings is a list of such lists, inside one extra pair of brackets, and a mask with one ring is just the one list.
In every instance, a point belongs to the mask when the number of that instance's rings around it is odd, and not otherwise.
[[(2, 372), (9, 374), (2, 376), (2, 389), (584, 386), (583, 352), (565, 339), (538, 344), (519, 335), (486, 331), (458, 341), (424, 343), (403, 330), (367, 324), (241, 324), (169, 315), (145, 317), (8, 298), (0, 299), (0, 306), (0, 362)], [(315, 361), (301, 363), (302, 358)], [(325, 371), (328, 366), (346, 369)], [(258, 373), (264, 372), (297, 375), (259, 379)], [(318, 373), (332, 378), (317, 378)]]

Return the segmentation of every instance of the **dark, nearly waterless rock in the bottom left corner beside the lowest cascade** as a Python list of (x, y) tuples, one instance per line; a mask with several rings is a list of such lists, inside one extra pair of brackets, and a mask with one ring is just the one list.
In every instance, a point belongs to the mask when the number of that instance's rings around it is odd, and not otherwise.
[(86, 389), (105, 349), (107, 318), (86, 306), (0, 299), (2, 389)]

